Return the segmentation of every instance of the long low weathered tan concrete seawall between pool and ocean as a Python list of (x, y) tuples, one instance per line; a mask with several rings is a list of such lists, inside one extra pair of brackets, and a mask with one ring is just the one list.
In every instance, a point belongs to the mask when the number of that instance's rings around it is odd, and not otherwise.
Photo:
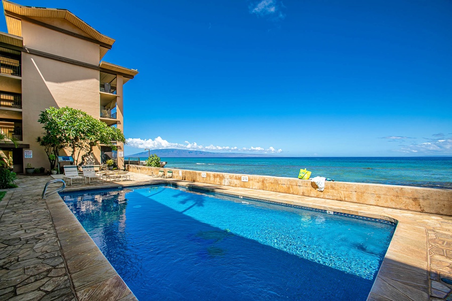
[[(382, 184), (326, 182), (323, 192), (309, 180), (240, 175), (127, 165), (131, 172), (157, 175), (173, 171), (173, 178), (197, 183), (251, 188), (329, 200), (376, 205), (386, 208), (452, 216), (452, 190)], [(204, 177), (205, 176), (205, 177)], [(248, 177), (248, 182), (242, 177)]]

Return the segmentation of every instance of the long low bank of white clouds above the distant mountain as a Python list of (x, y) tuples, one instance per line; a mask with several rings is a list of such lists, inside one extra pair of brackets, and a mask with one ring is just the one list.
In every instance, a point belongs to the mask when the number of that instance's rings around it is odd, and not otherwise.
[(141, 138), (128, 138), (127, 145), (134, 148), (150, 148), (150, 149), (162, 149), (162, 148), (178, 148), (178, 149), (191, 149), (191, 150), (205, 150), (207, 152), (221, 151), (221, 152), (256, 152), (256, 153), (282, 153), (282, 149), (276, 149), (273, 146), (269, 148), (264, 147), (237, 147), (237, 146), (215, 146), (210, 144), (208, 146), (199, 145), (196, 142), (185, 141), (182, 143), (168, 142), (162, 137), (153, 139), (141, 139)]

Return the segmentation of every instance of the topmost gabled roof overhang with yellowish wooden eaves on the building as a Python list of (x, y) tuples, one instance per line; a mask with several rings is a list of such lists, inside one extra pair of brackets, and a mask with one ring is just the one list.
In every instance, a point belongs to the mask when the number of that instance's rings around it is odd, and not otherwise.
[[(22, 36), (22, 23), (21, 20), (30, 21), (38, 25), (45, 26), (47, 28), (57, 30), (72, 36), (90, 40), (93, 43), (99, 44), (100, 46), (100, 58), (102, 58), (108, 49), (111, 49), (115, 40), (102, 35), (94, 28), (83, 22), (80, 18), (65, 9), (51, 9), (51, 8), (40, 8), (40, 7), (29, 7), (15, 4), (9, 1), (3, 1), (3, 8), (5, 11), (5, 18), (8, 27), (8, 32), (15, 36)], [(39, 20), (36, 20), (39, 18)], [(84, 35), (79, 35), (77, 33), (70, 32), (66, 29), (57, 28), (51, 24), (46, 24), (43, 22), (43, 18), (51, 19), (64, 19), (77, 27), (83, 32)], [(44, 19), (45, 20), (45, 19)]]

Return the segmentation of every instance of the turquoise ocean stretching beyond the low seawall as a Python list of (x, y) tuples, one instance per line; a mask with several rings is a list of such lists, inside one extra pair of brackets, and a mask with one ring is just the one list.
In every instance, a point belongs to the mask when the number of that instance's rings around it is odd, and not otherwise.
[(312, 172), (311, 178), (452, 189), (452, 157), (161, 158), (161, 161), (168, 162), (165, 168), (289, 178), (297, 178), (300, 169), (306, 168)]

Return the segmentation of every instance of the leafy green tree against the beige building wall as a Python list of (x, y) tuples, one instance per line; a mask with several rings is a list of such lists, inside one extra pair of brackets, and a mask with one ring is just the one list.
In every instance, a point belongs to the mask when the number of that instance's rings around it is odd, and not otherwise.
[(69, 149), (75, 164), (78, 163), (81, 153), (84, 153), (83, 161), (92, 154), (94, 146), (99, 147), (99, 143), (112, 149), (117, 149), (114, 141), (126, 143), (120, 129), (107, 126), (86, 112), (71, 107), (50, 107), (42, 111), (39, 117), (38, 121), (43, 124), (44, 137), (58, 143), (60, 149)]

